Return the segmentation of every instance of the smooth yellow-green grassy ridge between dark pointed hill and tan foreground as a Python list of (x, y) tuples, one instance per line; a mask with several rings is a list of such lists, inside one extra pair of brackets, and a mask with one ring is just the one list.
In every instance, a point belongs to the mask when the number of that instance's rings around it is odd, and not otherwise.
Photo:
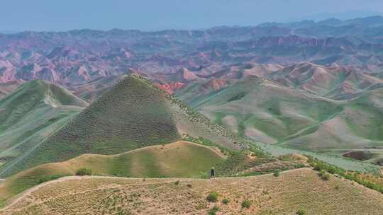
[(74, 175), (80, 168), (94, 175), (116, 175), (133, 178), (193, 177), (225, 158), (211, 147), (186, 141), (164, 146), (148, 146), (115, 156), (84, 154), (62, 163), (47, 163), (24, 170), (0, 185), (2, 199), (11, 197), (44, 182), (46, 178)]

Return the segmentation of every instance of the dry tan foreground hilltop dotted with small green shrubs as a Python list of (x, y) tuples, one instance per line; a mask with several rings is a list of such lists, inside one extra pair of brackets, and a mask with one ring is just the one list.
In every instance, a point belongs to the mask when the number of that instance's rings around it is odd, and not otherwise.
[[(218, 192), (217, 202), (206, 197)], [(224, 204), (223, 199), (228, 199)], [(245, 200), (248, 209), (243, 208)], [(355, 182), (321, 180), (301, 168), (278, 177), (113, 178), (67, 177), (46, 182), (10, 199), (0, 214), (382, 214), (383, 195)]]

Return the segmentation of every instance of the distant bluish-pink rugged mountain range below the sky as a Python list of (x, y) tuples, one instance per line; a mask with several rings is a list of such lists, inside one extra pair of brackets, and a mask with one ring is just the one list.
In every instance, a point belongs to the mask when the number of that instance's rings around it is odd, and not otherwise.
[(377, 71), (383, 17), (264, 23), (207, 30), (70, 30), (0, 34), (0, 82), (45, 79), (66, 86), (129, 73), (218, 71), (228, 64), (313, 62)]

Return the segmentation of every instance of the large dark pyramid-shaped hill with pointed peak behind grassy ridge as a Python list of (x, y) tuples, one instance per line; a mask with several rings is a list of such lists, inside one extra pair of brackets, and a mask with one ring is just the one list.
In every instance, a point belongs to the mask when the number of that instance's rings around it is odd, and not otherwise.
[(37, 147), (4, 165), (0, 174), (67, 161), (84, 153), (113, 155), (168, 144), (183, 134), (202, 136), (231, 149), (241, 146), (225, 129), (179, 100), (143, 78), (128, 76)]

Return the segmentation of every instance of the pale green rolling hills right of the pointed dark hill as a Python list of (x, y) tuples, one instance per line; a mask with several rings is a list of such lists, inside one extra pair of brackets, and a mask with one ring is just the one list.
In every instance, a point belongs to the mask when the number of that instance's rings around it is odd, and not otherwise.
[(338, 155), (383, 146), (382, 89), (340, 101), (250, 77), (191, 97), (189, 90), (196, 91), (194, 87), (187, 86), (177, 96), (242, 137)]

